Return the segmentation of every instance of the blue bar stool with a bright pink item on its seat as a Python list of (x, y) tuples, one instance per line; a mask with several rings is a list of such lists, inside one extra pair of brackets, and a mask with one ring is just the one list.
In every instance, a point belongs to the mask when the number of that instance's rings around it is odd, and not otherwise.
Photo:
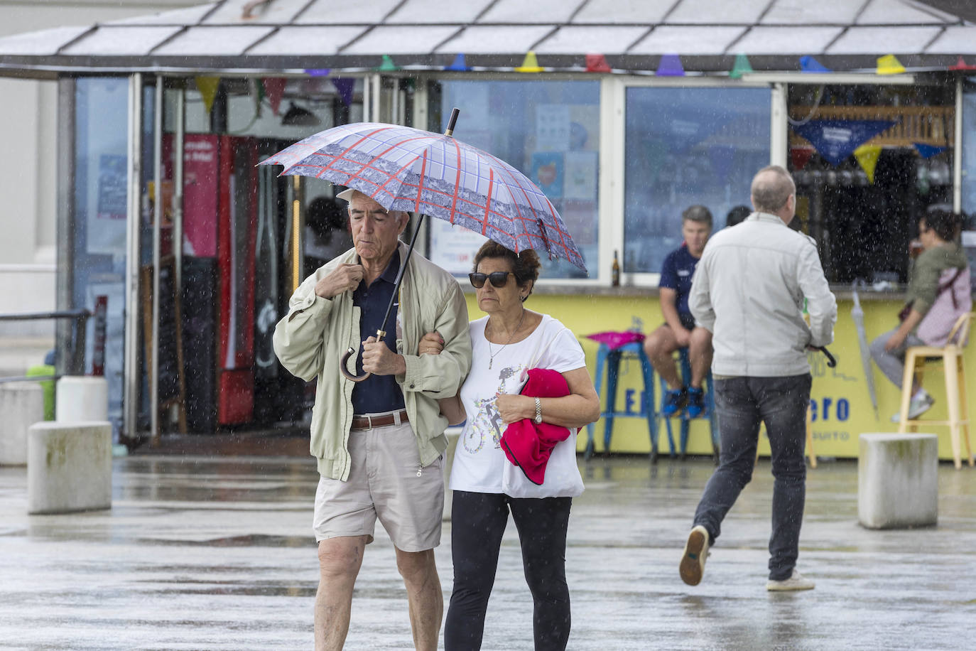
[[(640, 372), (644, 380), (644, 390), (640, 400), (639, 412), (617, 411), (617, 380), (620, 376), (620, 360), (625, 357), (640, 362)], [(600, 412), (603, 419), (603, 452), (610, 452), (610, 439), (613, 436), (615, 418), (645, 418), (650, 429), (651, 459), (658, 456), (658, 421), (654, 413), (654, 369), (647, 359), (642, 342), (631, 342), (624, 346), (611, 348), (604, 343), (596, 352), (596, 394), (600, 395), (603, 387), (603, 369), (607, 369), (606, 408)], [(587, 450), (584, 459), (590, 460), (594, 452), (593, 424), (587, 426)]]

